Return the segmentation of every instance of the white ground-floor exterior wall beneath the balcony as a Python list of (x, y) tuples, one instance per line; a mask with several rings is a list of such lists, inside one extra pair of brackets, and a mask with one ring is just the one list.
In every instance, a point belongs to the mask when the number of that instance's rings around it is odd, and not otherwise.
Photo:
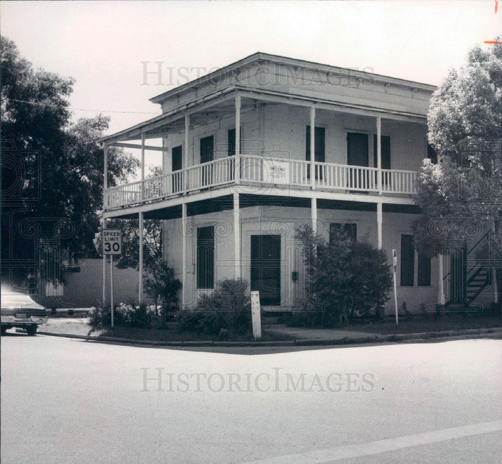
[[(250, 279), (250, 237), (254, 234), (281, 235), (281, 304), (284, 307), (298, 306), (303, 296), (304, 266), (300, 244), (295, 240), (295, 229), (310, 223), (310, 209), (296, 207), (256, 206), (241, 208), (241, 272), (242, 277)], [(198, 296), (195, 289), (196, 273), (196, 228), (208, 225), (215, 226), (215, 281), (234, 276), (233, 256), (233, 216), (231, 211), (212, 213), (189, 217), (189, 233), (187, 237), (187, 288), (186, 303), (193, 305)], [(383, 247), (388, 254), (388, 262), (392, 261), (392, 249), (400, 255), (401, 234), (411, 233), (412, 214), (385, 213), (383, 214)], [(182, 270), (182, 236), (181, 220), (165, 221), (167, 243), (165, 256), (169, 264), (174, 267), (177, 277), (181, 280)], [(329, 223), (353, 222), (357, 224), (358, 238), (366, 238), (376, 244), (376, 212), (346, 211), (318, 209), (318, 230), (328, 238)], [(437, 259), (432, 261), (431, 286), (416, 286), (417, 258), (415, 258), (415, 286), (400, 285), (400, 268), (398, 260), (397, 283), (398, 305), (406, 301), (411, 312), (418, 312), (420, 304), (435, 304), (438, 294), (438, 265)], [(292, 280), (292, 272), (299, 273), (298, 280)], [(391, 295), (392, 296), (392, 295)], [(386, 305), (386, 312), (392, 313), (394, 299)]]

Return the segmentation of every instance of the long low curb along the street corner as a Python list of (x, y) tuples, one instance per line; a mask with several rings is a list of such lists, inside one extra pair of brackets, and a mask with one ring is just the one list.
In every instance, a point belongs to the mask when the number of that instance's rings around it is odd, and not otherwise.
[[(24, 332), (22, 330), (17, 330)], [(342, 337), (336, 339), (298, 339), (277, 342), (162, 342), (151, 340), (132, 340), (116, 337), (103, 337), (100, 335), (75, 335), (75, 334), (57, 334), (54, 332), (37, 332), (39, 335), (49, 335), (53, 337), (65, 337), (79, 340), (89, 340), (96, 342), (114, 342), (128, 345), (153, 345), (169, 347), (291, 347), (291, 346), (332, 346), (332, 345), (363, 345), (379, 342), (405, 342), (409, 340), (431, 340), (445, 337), (457, 337), (464, 335), (502, 335), (502, 328), (486, 329), (466, 329), (445, 332), (420, 332), (416, 334), (392, 334), (392, 335), (371, 335), (366, 337)]]

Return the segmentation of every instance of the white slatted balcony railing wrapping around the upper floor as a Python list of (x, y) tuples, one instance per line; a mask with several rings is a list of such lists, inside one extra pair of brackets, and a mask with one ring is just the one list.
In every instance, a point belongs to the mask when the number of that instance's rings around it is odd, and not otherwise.
[(111, 187), (104, 193), (104, 207), (109, 209), (150, 202), (234, 183), (342, 192), (382, 191), (383, 194), (397, 195), (416, 193), (415, 171), (383, 169), (381, 176), (379, 185), (379, 170), (376, 168), (241, 154), (144, 181)]

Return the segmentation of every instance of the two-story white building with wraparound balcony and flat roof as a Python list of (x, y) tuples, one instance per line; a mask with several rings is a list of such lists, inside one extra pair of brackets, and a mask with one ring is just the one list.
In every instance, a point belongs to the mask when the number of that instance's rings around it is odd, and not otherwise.
[[(140, 232), (144, 219), (164, 221), (165, 258), (183, 282), (184, 307), (218, 280), (243, 277), (265, 310), (298, 308), (305, 273), (295, 229), (311, 224), (326, 239), (340, 227), (365, 237), (389, 262), (396, 249), (398, 303), (419, 311), (444, 300), (455, 273), (419, 256), (412, 241), (417, 172), (434, 157), (426, 125), (434, 90), (248, 56), (152, 98), (162, 115), (101, 140), (105, 170), (107, 146), (142, 148), (142, 180), (105, 185), (104, 218), (139, 218)], [(160, 137), (163, 147), (148, 144)], [(145, 179), (145, 150), (162, 153), (163, 175)], [(469, 288), (471, 271), (462, 272), (471, 301), (491, 283), (478, 272)]]

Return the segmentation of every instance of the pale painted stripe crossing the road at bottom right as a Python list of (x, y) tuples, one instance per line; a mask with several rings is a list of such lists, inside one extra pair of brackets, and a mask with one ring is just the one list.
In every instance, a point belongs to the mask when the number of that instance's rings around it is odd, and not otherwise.
[[(252, 462), (254, 464), (314, 464), (348, 459), (350, 457), (378, 454), (421, 444), (437, 443), (439, 441), (452, 440), (463, 436), (479, 435), (481, 433), (496, 432), (499, 430), (502, 430), (502, 420), (494, 420), (492, 422), (480, 422), (478, 424), (464, 425), (461, 427), (444, 428), (442, 430), (398, 436), (396, 438), (370, 441), (368, 443), (338, 446), (336, 448), (320, 449), (318, 451), (305, 453), (287, 454)], [(250, 464), (250, 462), (248, 464)]]

